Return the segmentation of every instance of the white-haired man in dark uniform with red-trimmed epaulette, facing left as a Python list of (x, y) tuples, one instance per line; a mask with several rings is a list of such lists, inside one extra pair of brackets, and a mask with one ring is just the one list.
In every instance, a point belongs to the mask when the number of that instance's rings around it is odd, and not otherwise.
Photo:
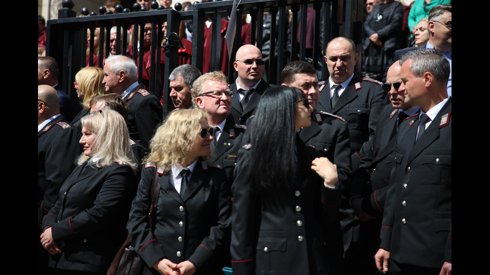
[(107, 57), (104, 75), (102, 83), (105, 85), (105, 91), (119, 94), (127, 101), (129, 137), (147, 148), (156, 126), (162, 119), (160, 101), (136, 81), (137, 67), (134, 60), (128, 57)]

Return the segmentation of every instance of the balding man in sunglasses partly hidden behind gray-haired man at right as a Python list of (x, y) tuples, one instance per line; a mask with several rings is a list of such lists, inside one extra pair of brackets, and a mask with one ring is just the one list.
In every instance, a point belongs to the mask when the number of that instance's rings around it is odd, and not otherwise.
[(384, 201), (394, 161), (396, 133), (400, 123), (414, 115), (420, 108), (404, 103), (404, 92), (398, 91), (401, 84), (401, 66), (396, 61), (388, 70), (387, 83), (383, 84), (391, 104), (384, 106), (374, 131), (374, 137), (365, 142), (359, 156), (362, 158), (359, 169), (354, 174), (350, 191), (350, 204), (361, 220), (360, 245), (364, 257), (358, 265), (363, 265), (372, 274), (376, 267), (372, 262), (379, 248), (378, 236), (381, 230)]

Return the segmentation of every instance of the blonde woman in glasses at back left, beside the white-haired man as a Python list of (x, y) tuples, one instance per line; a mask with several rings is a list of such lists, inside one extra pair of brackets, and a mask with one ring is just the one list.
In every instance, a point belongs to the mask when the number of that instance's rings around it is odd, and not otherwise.
[(102, 83), (104, 71), (99, 67), (81, 68), (75, 74), (73, 86), (76, 89), (76, 95), (81, 100), (81, 110), (75, 116), (71, 125), (81, 132), (80, 119), (90, 112), (90, 100), (97, 95), (105, 94), (105, 87)]

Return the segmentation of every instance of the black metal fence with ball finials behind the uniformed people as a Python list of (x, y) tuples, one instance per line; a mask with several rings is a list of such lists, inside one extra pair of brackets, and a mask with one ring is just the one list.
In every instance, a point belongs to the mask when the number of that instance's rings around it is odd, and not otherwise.
[[(116, 54), (125, 53), (128, 39), (127, 30), (132, 27), (132, 52), (137, 52), (138, 36), (143, 41), (143, 28), (146, 23), (151, 23), (152, 39), (149, 68), (149, 90), (158, 98), (163, 91), (163, 109), (173, 108), (168, 96), (168, 75), (178, 66), (178, 47), (170, 46), (165, 50), (164, 73), (162, 84), (160, 84), (160, 54), (162, 41), (162, 25), (166, 22), (166, 33), (179, 32), (181, 20), (191, 19), (193, 22), (192, 32), (192, 58), (191, 64), (202, 71), (203, 68), (203, 48), (204, 48), (204, 24), (210, 18), (212, 21), (212, 39), (210, 52), (210, 71), (219, 69), (220, 58), (226, 58), (228, 64), (228, 82), (231, 83), (236, 78), (233, 69), (234, 53), (241, 46), (241, 15), (251, 16), (250, 43), (263, 50), (268, 46), (268, 57), (264, 56), (267, 66), (264, 68), (264, 78), (270, 84), (280, 84), (280, 73), (282, 68), (290, 61), (308, 59), (321, 71), (322, 75), (328, 72), (322, 61), (322, 49), (324, 45), (333, 37), (346, 36), (354, 40), (357, 45), (357, 52), (360, 54), (360, 44), (362, 42), (362, 0), (237, 0), (236, 6), (236, 34), (231, 51), (231, 58), (221, 56), (221, 18), (230, 16), (233, 1), (213, 1), (198, 3), (194, 2), (193, 10), (177, 11), (174, 9), (157, 9), (156, 2), (152, 3), (154, 9), (146, 11), (130, 11), (125, 8), (118, 8), (114, 14), (99, 14), (91, 16), (75, 17), (76, 12), (69, 7), (59, 10), (58, 18), (47, 21), (47, 47), (46, 56), (54, 57), (60, 68), (59, 82), (62, 89), (68, 95), (76, 99), (76, 91), (71, 82), (74, 80), (76, 72), (87, 65), (92, 65), (94, 61), (99, 67), (103, 66), (104, 57), (108, 56), (109, 31), (115, 26), (117, 28)], [(175, 8), (179, 9), (179, 4)], [(313, 29), (308, 28), (307, 17), (309, 11), (314, 11)], [(312, 9), (311, 9), (312, 8)], [(137, 8), (139, 10), (139, 8)], [(83, 11), (87, 13), (86, 11)], [(264, 16), (268, 12), (268, 17)], [(310, 15), (312, 13), (309, 13)], [(264, 17), (265, 21), (264, 22)], [(290, 18), (290, 19), (289, 19)], [(268, 20), (268, 21), (267, 21)], [(270, 24), (268, 23), (270, 22)], [(264, 24), (265, 23), (265, 24)], [(299, 29), (298, 29), (299, 26)], [(311, 25), (310, 25), (311, 26)], [(228, 25), (228, 31), (232, 26)], [(99, 28), (99, 44), (97, 60), (93, 60), (93, 39), (94, 30)], [(89, 49), (87, 54), (87, 29), (90, 30), (88, 37)], [(122, 29), (122, 32), (120, 31)], [(307, 32), (312, 33), (313, 47), (306, 48)], [(122, 33), (122, 35), (121, 35)], [(299, 33), (299, 39), (297, 39)], [(311, 35), (310, 35), (311, 36)], [(102, 43), (105, 41), (105, 43)], [(122, 41), (120, 43), (119, 41)], [(105, 45), (104, 45), (105, 44)], [(170, 43), (168, 43), (170, 44)], [(102, 46), (104, 45), (104, 46)], [(140, 44), (140, 52), (142, 50)], [(105, 48), (105, 49), (104, 49)], [(105, 52), (105, 53), (104, 53)], [(270, 54), (269, 54), (270, 53)], [(273, 53), (273, 54), (272, 54)], [(88, 56), (88, 57), (87, 57)], [(138, 81), (142, 81), (143, 58), (137, 59), (133, 54), (133, 59), (137, 60)], [(360, 58), (358, 59), (360, 60)], [(360, 71), (360, 64), (356, 70)], [(163, 85), (160, 87), (160, 85)]]

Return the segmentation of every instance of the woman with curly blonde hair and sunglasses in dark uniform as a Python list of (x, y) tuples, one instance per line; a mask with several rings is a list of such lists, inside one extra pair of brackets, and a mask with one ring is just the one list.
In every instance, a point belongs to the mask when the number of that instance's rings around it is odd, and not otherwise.
[[(180, 109), (150, 141), (127, 222), (145, 275), (221, 273), (228, 250), (223, 243), (230, 238), (231, 200), (224, 171), (204, 160), (211, 154), (211, 140), (204, 112)], [(151, 229), (148, 213), (155, 175), (159, 197)]]

